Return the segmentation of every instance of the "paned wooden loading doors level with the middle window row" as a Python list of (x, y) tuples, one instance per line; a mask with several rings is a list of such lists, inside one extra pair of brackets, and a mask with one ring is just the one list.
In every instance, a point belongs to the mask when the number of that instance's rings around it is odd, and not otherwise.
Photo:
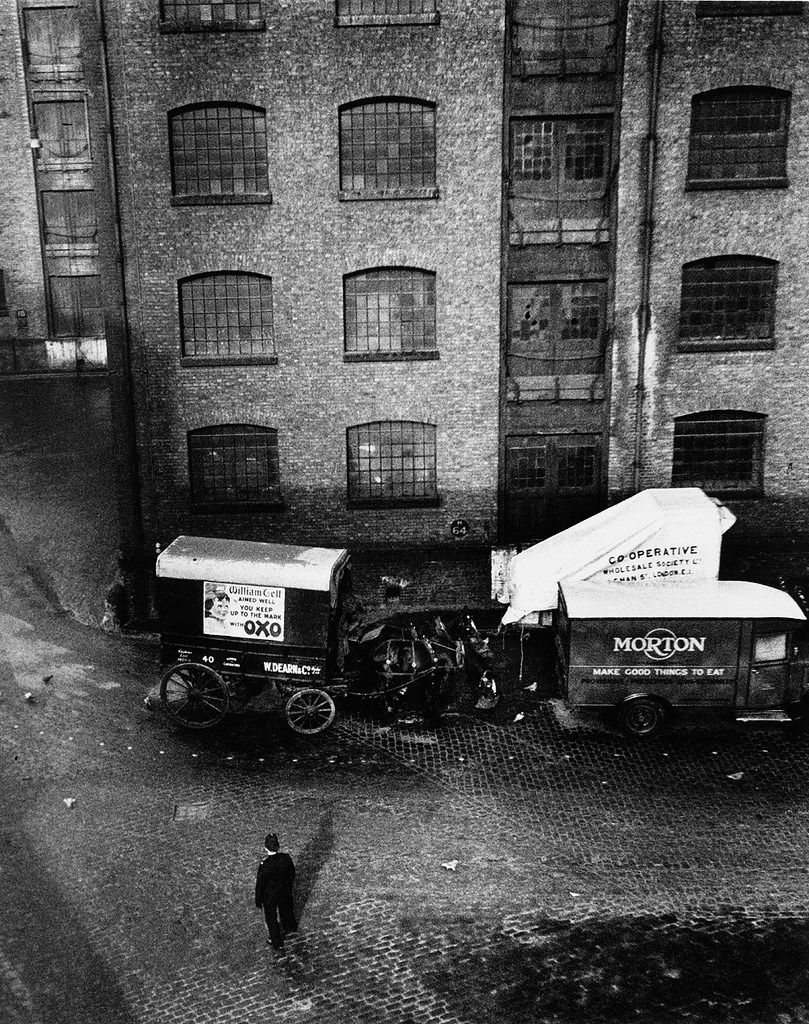
[(605, 311), (603, 281), (509, 286), (510, 376), (603, 373)]

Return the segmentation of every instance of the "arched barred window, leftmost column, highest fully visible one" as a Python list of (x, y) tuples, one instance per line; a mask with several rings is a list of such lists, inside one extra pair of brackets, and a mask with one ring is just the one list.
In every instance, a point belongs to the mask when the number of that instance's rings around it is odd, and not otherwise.
[(261, 202), (269, 196), (264, 111), (200, 103), (169, 115), (172, 186), (177, 200)]

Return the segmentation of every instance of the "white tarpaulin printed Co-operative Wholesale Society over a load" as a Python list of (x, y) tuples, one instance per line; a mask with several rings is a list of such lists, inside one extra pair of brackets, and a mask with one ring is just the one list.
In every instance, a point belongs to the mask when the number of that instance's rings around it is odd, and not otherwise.
[(559, 583), (716, 580), (722, 535), (736, 521), (698, 487), (641, 490), (515, 555), (501, 601), (504, 625), (538, 622)]

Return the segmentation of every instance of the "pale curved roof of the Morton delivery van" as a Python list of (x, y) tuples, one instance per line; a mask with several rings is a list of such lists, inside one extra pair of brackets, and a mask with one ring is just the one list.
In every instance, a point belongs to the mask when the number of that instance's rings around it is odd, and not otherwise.
[(695, 583), (562, 583), (570, 618), (793, 618), (798, 604), (774, 587), (740, 580)]

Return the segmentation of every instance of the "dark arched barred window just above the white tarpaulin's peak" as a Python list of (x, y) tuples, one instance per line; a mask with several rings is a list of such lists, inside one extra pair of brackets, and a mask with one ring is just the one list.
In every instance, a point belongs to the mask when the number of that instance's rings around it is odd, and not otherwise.
[(722, 410), (674, 423), (672, 486), (761, 494), (765, 418)]

